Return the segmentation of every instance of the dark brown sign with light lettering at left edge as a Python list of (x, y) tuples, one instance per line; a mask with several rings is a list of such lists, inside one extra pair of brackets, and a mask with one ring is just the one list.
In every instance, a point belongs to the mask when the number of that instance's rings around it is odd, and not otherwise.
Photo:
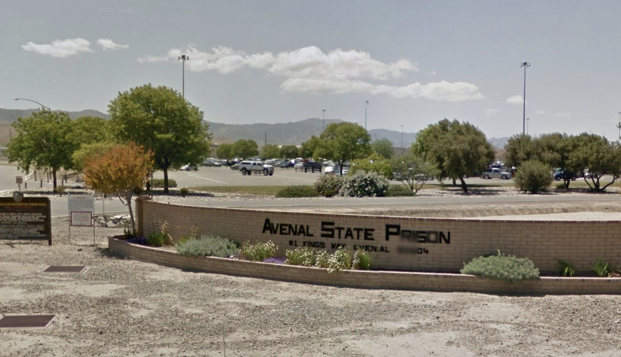
[(0, 197), (0, 240), (47, 240), (52, 245), (50, 199)]

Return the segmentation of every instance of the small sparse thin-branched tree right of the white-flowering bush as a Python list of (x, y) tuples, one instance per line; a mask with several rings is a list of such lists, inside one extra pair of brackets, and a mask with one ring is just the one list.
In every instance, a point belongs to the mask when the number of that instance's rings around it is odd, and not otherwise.
[(440, 174), (434, 165), (426, 163), (420, 155), (412, 152), (392, 158), (392, 173), (414, 194), (417, 194), (427, 181)]

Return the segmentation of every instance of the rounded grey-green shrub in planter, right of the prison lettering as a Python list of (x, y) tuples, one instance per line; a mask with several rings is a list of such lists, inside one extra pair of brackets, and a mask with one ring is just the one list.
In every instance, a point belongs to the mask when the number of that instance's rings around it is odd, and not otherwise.
[(539, 278), (539, 269), (535, 268), (532, 260), (501, 253), (474, 258), (465, 264), (460, 273), (501, 279), (510, 283)]

